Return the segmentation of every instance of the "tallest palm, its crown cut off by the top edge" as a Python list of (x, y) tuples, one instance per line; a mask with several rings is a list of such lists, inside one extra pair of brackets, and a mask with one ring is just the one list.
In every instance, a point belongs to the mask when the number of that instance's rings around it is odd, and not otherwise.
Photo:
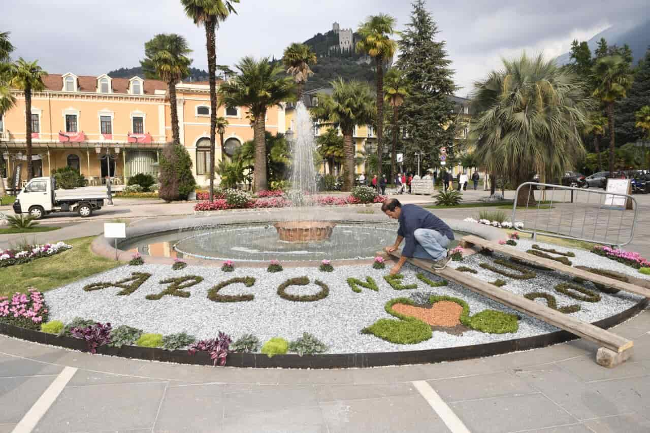
[(216, 138), (216, 28), (226, 21), (230, 14), (237, 14), (233, 3), (239, 0), (181, 0), (185, 14), (196, 25), (205, 27), (205, 46), (207, 48), (207, 70), (210, 82), (210, 191), (213, 199), (214, 189), (214, 140)]

